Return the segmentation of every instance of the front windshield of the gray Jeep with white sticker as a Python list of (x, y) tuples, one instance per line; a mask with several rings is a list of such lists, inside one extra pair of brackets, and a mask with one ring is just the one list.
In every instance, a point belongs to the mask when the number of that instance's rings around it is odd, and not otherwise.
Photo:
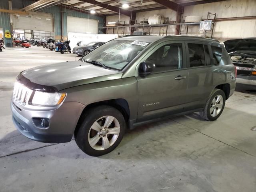
[(100, 62), (107, 68), (122, 70), (148, 44), (148, 42), (133, 40), (112, 40), (87, 54), (83, 59)]

